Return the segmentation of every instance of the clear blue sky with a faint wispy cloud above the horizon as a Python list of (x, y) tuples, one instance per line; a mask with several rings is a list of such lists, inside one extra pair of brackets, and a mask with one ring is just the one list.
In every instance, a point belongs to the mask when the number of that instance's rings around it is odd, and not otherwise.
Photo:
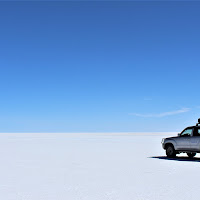
[(200, 2), (0, 2), (0, 132), (177, 131), (200, 118)]

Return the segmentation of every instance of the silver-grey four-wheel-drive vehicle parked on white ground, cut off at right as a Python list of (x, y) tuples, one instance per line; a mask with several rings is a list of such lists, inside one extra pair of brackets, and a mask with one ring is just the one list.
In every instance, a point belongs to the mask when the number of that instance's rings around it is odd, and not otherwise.
[(162, 147), (166, 150), (167, 157), (176, 157), (176, 154), (187, 153), (193, 158), (200, 153), (200, 118), (196, 126), (185, 128), (177, 137), (162, 139)]

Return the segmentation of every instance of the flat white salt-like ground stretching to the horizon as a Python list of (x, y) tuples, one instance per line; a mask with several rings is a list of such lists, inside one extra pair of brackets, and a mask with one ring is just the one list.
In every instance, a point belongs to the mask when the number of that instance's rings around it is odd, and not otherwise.
[(166, 136), (0, 134), (0, 199), (199, 199), (200, 159), (166, 159)]

